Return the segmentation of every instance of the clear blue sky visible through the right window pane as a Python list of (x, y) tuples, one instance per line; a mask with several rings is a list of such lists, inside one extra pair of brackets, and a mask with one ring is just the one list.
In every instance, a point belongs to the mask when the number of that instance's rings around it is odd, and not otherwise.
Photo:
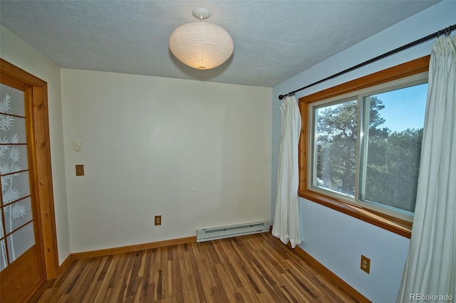
[(385, 105), (385, 108), (380, 110), (380, 116), (385, 119), (385, 123), (380, 125), (381, 128), (388, 127), (391, 132), (402, 132), (424, 126), (427, 83), (383, 92), (376, 96)]

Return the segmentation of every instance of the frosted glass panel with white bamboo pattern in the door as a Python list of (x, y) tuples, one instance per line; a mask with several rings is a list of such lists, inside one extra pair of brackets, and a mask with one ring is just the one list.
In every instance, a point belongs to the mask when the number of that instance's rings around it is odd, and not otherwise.
[(35, 244), (24, 92), (0, 84), (0, 270)]

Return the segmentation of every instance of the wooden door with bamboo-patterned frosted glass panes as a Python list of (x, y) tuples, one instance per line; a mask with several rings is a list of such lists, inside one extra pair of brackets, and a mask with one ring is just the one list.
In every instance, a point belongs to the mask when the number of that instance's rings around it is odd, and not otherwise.
[(0, 302), (20, 302), (46, 280), (36, 197), (31, 87), (0, 84)]

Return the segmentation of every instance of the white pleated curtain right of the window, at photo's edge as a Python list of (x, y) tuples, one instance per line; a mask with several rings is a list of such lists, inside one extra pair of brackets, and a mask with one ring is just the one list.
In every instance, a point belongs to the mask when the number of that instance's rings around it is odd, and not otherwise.
[(456, 38), (442, 37), (430, 57), (415, 218), (397, 302), (455, 302), (455, 259)]

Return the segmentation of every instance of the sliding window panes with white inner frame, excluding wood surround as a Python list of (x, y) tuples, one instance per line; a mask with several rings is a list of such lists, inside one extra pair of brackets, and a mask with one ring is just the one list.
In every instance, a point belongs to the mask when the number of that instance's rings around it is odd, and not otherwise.
[[(418, 78), (418, 80), (416, 80)], [(418, 81), (418, 82), (417, 82)], [(427, 75), (311, 105), (312, 188), (404, 219), (415, 209)], [(404, 87), (403, 87), (404, 86)]]

